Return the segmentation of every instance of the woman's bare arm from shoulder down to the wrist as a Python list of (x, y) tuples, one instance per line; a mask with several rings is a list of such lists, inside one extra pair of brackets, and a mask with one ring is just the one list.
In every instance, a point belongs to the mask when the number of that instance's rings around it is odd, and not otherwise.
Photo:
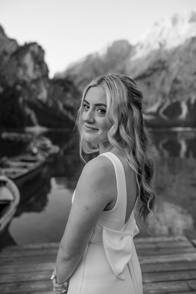
[(65, 282), (81, 260), (101, 212), (113, 200), (112, 183), (115, 171), (108, 158), (94, 158), (84, 167), (57, 255), (57, 283)]

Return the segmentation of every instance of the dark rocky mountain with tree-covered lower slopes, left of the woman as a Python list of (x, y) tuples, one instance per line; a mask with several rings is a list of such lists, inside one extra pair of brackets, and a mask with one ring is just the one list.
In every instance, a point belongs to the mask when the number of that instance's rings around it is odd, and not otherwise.
[(19, 46), (0, 27), (0, 126), (72, 127), (78, 100), (68, 78), (50, 80), (37, 43)]

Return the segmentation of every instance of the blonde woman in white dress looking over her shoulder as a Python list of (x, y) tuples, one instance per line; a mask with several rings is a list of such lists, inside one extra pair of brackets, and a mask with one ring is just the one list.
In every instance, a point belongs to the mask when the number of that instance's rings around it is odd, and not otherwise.
[(155, 194), (142, 98), (135, 81), (120, 74), (97, 77), (84, 89), (76, 121), (80, 155), (100, 155), (83, 168), (73, 194), (51, 277), (56, 293), (143, 293), (133, 207), (137, 199), (145, 223)]

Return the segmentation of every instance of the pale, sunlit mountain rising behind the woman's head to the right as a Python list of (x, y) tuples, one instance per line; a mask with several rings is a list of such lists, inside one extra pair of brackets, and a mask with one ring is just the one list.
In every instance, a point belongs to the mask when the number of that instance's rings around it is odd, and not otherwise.
[(196, 13), (160, 20), (135, 46), (115, 41), (55, 78), (69, 78), (81, 91), (107, 72), (123, 73), (138, 82), (148, 126), (196, 127)]

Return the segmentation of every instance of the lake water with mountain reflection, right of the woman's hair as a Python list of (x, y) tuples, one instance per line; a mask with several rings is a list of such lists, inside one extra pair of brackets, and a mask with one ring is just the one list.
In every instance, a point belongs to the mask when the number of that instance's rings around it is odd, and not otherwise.
[(160, 135), (154, 134), (158, 151), (156, 183), (162, 199), (158, 203), (155, 234), (159, 229), (163, 234), (174, 235), (193, 231), (196, 229), (196, 133)]

